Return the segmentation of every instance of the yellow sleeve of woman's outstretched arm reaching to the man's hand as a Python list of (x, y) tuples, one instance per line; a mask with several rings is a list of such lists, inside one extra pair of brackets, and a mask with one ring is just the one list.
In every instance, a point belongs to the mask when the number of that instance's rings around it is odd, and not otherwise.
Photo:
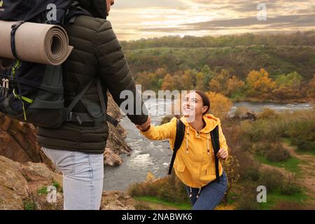
[(145, 132), (140, 132), (146, 138), (151, 140), (164, 140), (164, 139), (172, 139), (176, 135), (176, 118), (172, 118), (169, 123), (165, 123), (159, 126), (149, 127)]

